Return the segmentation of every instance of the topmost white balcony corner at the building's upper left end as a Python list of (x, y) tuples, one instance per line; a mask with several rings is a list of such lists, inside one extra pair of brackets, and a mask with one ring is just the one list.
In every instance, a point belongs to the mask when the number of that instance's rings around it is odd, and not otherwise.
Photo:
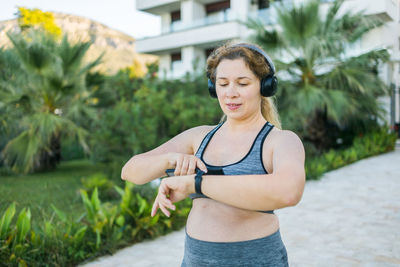
[(169, 13), (180, 9), (179, 0), (136, 0), (136, 9), (155, 15)]

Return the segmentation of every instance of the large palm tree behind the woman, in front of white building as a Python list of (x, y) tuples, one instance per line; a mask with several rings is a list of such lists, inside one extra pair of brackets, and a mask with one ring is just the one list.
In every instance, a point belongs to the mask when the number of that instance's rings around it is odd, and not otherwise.
[(329, 135), (338, 128), (366, 124), (371, 118), (384, 120), (377, 97), (387, 94), (387, 87), (377, 68), (389, 59), (388, 52), (381, 48), (354, 54), (352, 49), (383, 22), (363, 12), (339, 15), (342, 3), (331, 3), (326, 15), (320, 1), (277, 5), (274, 29), (266, 29), (257, 19), (246, 23), (254, 30), (251, 40), (268, 51), (277, 65), (283, 124), (320, 150), (332, 145), (336, 138)]

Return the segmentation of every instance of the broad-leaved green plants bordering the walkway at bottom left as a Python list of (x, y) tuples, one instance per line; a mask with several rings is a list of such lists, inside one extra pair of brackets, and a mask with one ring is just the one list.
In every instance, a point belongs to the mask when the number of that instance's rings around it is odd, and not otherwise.
[(72, 266), (117, 248), (145, 239), (155, 238), (180, 229), (190, 210), (190, 199), (176, 203), (170, 217), (151, 217), (151, 199), (134, 193), (134, 185), (115, 187), (119, 203), (102, 202), (97, 188), (91, 196), (81, 190), (85, 207), (78, 219), (52, 205), (54, 215), (31, 229), (29, 209), (23, 209), (13, 224), (15, 203), (0, 220), (0, 261), (6, 266)]

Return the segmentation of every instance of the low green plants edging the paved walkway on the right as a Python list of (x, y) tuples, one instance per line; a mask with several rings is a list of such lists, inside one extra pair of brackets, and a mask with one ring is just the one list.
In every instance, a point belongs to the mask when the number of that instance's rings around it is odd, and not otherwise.
[(394, 150), (397, 135), (388, 127), (377, 128), (370, 133), (357, 136), (352, 146), (333, 150), (306, 159), (306, 177), (319, 179), (327, 171), (351, 164), (357, 160)]

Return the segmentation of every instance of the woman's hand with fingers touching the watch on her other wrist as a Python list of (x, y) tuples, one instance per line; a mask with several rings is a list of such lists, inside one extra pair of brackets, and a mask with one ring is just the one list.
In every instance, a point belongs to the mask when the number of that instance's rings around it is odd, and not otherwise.
[(168, 161), (170, 168), (175, 168), (175, 176), (194, 174), (196, 167), (207, 172), (204, 162), (195, 155), (170, 152)]

